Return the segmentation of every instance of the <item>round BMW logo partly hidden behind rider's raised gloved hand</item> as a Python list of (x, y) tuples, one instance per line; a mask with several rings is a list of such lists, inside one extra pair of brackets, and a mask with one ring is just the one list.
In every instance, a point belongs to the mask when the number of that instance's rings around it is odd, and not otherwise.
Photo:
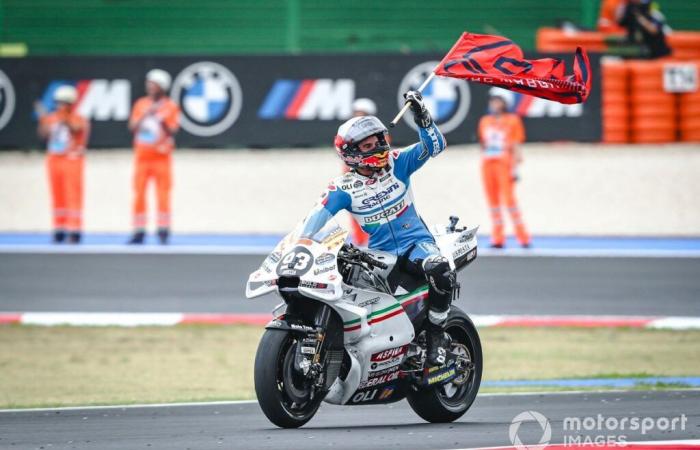
[[(438, 63), (439, 61), (424, 62), (408, 71), (399, 85), (399, 108), (405, 103), (404, 92), (417, 89)], [(435, 77), (423, 89), (423, 100), (433, 120), (440, 126), (440, 131), (447, 134), (460, 126), (467, 117), (471, 103), (469, 84), (454, 78)], [(405, 114), (403, 120), (413, 129), (417, 129), (410, 114)]]

